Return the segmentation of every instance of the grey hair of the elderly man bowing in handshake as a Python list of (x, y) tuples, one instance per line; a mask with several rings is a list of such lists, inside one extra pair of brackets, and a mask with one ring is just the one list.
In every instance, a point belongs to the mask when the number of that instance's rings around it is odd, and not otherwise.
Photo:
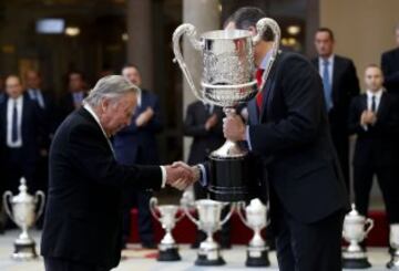
[(108, 75), (96, 82), (83, 102), (95, 107), (103, 98), (116, 100), (130, 92), (140, 94), (141, 90), (121, 75)]

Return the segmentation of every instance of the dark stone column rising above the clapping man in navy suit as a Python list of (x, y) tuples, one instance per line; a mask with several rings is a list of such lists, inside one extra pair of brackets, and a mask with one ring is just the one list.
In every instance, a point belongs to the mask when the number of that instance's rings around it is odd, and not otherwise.
[(142, 85), (153, 90), (153, 27), (151, 0), (127, 0), (127, 61), (140, 69)]

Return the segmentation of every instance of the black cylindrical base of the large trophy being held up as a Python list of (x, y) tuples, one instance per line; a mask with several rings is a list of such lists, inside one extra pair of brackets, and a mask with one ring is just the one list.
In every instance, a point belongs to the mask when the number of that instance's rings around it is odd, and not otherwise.
[(252, 185), (253, 163), (249, 155), (239, 157), (218, 157), (215, 153), (209, 156), (211, 178), (209, 198), (216, 201), (236, 202), (248, 200), (257, 189)]

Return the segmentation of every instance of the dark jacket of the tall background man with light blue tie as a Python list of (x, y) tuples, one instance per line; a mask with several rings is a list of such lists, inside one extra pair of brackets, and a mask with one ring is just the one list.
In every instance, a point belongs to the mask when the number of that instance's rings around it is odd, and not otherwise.
[[(316, 70), (319, 70), (318, 58), (311, 60)], [(332, 67), (331, 95), (334, 107), (329, 112), (329, 123), (336, 147), (340, 140), (345, 140), (348, 148), (347, 125), (349, 116), (349, 105), (352, 97), (359, 95), (359, 80), (356, 74), (354, 62), (347, 58), (335, 55)], [(342, 143), (342, 147), (344, 143)]]

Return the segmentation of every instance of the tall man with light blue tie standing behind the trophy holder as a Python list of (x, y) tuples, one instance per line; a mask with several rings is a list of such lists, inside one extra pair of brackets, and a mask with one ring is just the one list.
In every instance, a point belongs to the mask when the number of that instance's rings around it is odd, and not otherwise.
[(311, 63), (318, 70), (323, 80), (332, 143), (349, 191), (349, 136), (347, 122), (350, 101), (360, 93), (360, 87), (354, 62), (335, 54), (334, 44), (332, 31), (328, 28), (318, 29), (315, 34), (318, 58), (313, 59)]

